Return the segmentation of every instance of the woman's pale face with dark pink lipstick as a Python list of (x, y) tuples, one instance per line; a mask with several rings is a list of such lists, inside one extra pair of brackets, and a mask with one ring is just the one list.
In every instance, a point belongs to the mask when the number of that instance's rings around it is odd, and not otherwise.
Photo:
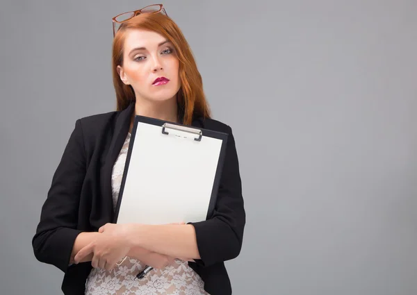
[(133, 87), (136, 99), (166, 101), (176, 97), (181, 87), (174, 47), (153, 31), (126, 31), (123, 65), (117, 70), (123, 83)]

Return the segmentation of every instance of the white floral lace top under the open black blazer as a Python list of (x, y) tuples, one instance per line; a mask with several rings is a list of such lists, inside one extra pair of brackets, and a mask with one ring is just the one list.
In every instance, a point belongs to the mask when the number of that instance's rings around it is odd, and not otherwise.
[[(113, 166), (111, 184), (113, 188), (113, 208), (117, 203), (120, 184), (129, 149), (131, 133), (124, 141), (122, 150)], [(175, 260), (164, 269), (153, 269), (142, 279), (136, 275), (145, 268), (140, 261), (127, 258), (111, 271), (92, 269), (85, 284), (86, 295), (208, 295), (198, 274), (188, 266), (188, 262)]]

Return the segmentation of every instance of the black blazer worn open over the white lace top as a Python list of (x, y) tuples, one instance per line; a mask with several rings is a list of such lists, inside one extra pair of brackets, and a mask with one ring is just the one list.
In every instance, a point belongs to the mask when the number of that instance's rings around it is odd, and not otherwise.
[[(117, 112), (76, 120), (70, 140), (52, 178), (40, 222), (33, 237), (35, 257), (65, 273), (64, 294), (81, 295), (90, 262), (69, 266), (74, 240), (83, 231), (97, 231), (112, 222), (111, 173), (129, 132), (134, 103)], [(245, 209), (238, 156), (231, 128), (213, 119), (196, 118), (192, 126), (229, 134), (218, 199), (213, 216), (193, 223), (201, 260), (188, 262), (211, 295), (231, 294), (224, 261), (240, 253)], [(195, 171), (198, 173), (198, 171)]]

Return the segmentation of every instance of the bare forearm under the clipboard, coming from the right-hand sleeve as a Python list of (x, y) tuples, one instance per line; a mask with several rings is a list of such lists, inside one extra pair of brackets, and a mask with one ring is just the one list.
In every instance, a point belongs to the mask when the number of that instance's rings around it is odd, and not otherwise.
[(130, 241), (135, 247), (161, 253), (173, 258), (199, 259), (194, 226), (134, 225)]

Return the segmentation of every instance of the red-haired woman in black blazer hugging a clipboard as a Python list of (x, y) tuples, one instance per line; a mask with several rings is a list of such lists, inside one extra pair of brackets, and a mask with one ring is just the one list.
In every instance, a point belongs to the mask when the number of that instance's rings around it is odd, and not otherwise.
[[(210, 118), (178, 26), (160, 5), (145, 10), (113, 31), (117, 111), (76, 121), (42, 207), (35, 257), (64, 271), (64, 294), (231, 294), (224, 261), (240, 253), (245, 226), (234, 137)], [(209, 219), (111, 224), (135, 115), (229, 134)], [(136, 280), (146, 264), (154, 270)]]

